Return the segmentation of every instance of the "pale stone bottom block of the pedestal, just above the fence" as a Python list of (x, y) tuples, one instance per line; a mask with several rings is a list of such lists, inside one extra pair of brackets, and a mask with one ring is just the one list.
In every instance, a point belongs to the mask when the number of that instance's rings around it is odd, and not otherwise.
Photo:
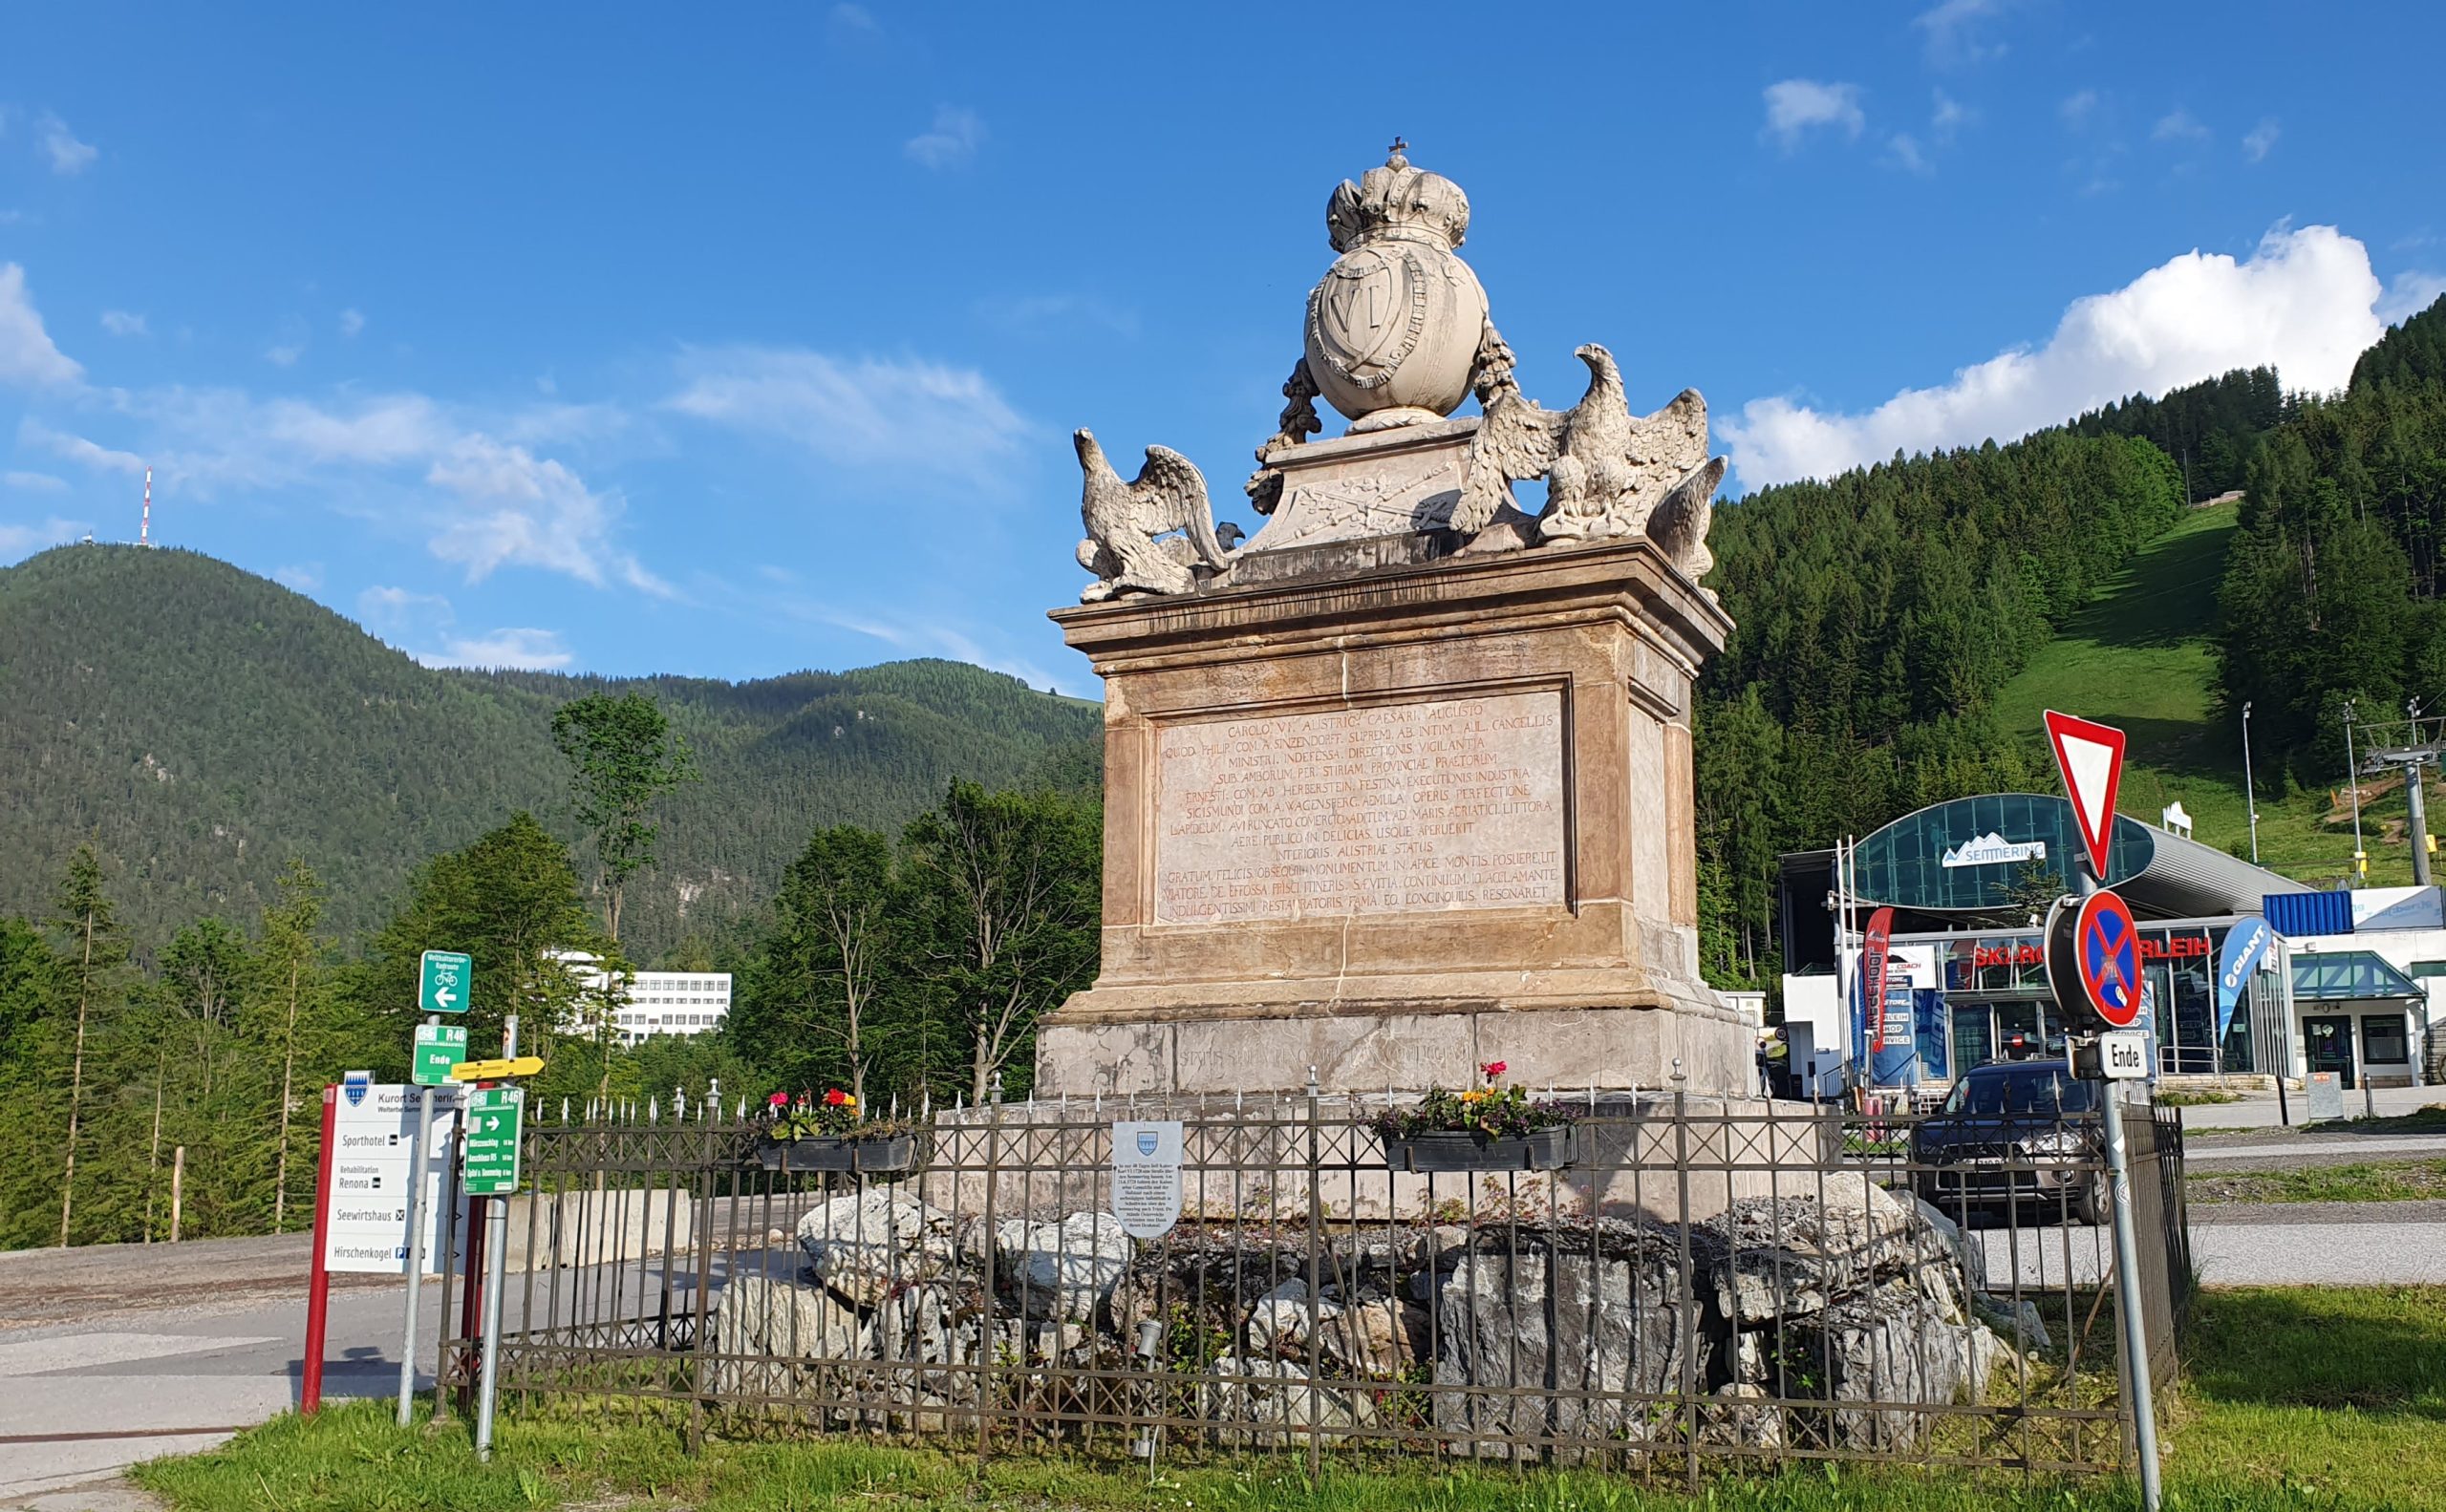
[(1328, 1094), (1472, 1086), (1504, 1062), (1504, 1081), (1600, 1091), (1683, 1086), (1756, 1091), (1756, 1037), (1729, 1010), (1676, 1008), (1370, 1008), (1287, 1015), (1086, 1018), (1037, 1030), (1037, 1096), (1201, 1096), (1301, 1091), (1314, 1069)]

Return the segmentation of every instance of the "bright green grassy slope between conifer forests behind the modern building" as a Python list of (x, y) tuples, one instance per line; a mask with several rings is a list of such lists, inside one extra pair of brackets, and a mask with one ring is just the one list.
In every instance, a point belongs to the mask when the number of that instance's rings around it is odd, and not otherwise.
[[(2236, 509), (2194, 509), (2143, 548), (1996, 697), (2008, 729), (2045, 746), (2042, 710), (2113, 724), (2130, 736), (2116, 807), (2148, 825), (2182, 800), (2194, 837), (2219, 849), (2250, 844), (2243, 802), (2241, 724), (2216, 714), (2216, 582), (2233, 541)], [(2260, 773), (2265, 788), (2265, 771)], [(2343, 773), (2333, 788), (2260, 800), (2260, 864), (2311, 886), (2346, 876), (2353, 817)], [(2436, 807), (2431, 788), (2431, 810)], [(2400, 780), (2363, 798), (2370, 883), (2412, 881)]]

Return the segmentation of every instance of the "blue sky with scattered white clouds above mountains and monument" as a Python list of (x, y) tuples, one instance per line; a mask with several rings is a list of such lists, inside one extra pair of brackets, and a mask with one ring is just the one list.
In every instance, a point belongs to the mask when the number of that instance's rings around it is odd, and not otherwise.
[[(1071, 426), (1218, 514), (1411, 159), (1570, 404), (1700, 387), (1737, 484), (2446, 291), (2446, 10), (12, 7), (0, 560), (93, 531), (426, 661), (1091, 692)], [(1128, 462), (1123, 462), (1128, 467)]]

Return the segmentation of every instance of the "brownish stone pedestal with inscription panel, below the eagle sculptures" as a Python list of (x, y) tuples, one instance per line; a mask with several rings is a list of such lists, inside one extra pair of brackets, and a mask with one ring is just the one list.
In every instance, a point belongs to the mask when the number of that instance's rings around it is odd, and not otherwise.
[(1103, 969), (1037, 1096), (1751, 1091), (1698, 976), (1690, 687), (1732, 629), (1646, 538), (1426, 531), (1054, 612), (1106, 683)]

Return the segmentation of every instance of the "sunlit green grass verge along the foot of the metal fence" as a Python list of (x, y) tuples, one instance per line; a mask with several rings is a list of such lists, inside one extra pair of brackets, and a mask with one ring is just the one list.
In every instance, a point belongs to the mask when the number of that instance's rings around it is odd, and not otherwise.
[[(2199, 1299), (2187, 1382), (2165, 1407), (2170, 1507), (2184, 1512), (2446, 1510), (2446, 1287), (2231, 1289)], [(284, 1417), (225, 1448), (154, 1461), (137, 1483), (181, 1512), (2013, 1512), (2133, 1507), (2128, 1485), (1812, 1468), (1727, 1478), (1700, 1497), (1622, 1478), (1331, 1468), (1287, 1453), (1243, 1468), (1088, 1468), (854, 1441), (685, 1453), (663, 1426), (560, 1407), (504, 1419), (477, 1463), (460, 1424), (394, 1429), (377, 1402)]]

